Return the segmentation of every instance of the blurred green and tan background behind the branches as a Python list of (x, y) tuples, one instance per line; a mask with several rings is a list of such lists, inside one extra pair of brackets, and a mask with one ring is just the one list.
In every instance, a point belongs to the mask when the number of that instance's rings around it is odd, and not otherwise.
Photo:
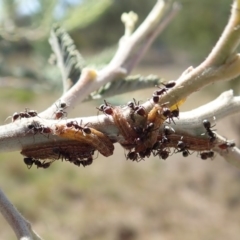
[[(155, 2), (0, 0), (1, 123), (26, 107), (40, 112), (61, 96), (59, 70), (48, 62), (54, 23), (65, 28), (89, 65), (99, 66), (111, 59), (124, 33), (121, 14), (134, 11), (141, 23)], [(211, 51), (227, 23), (231, 2), (179, 2), (182, 10), (133, 74), (176, 79)], [(237, 82), (205, 88), (190, 96), (180, 110), (207, 103), (224, 90), (239, 94)], [(125, 104), (133, 96), (145, 101), (152, 92), (137, 91), (109, 101)], [(96, 115), (101, 103), (83, 103), (69, 117)], [(238, 142), (237, 122), (231, 117), (216, 128)], [(126, 161), (124, 150), (115, 147), (113, 156), (99, 155), (86, 168), (59, 161), (47, 170), (28, 170), (20, 153), (1, 153), (1, 188), (44, 239), (238, 239), (238, 169), (221, 157), (202, 161), (195, 153), (136, 163)], [(15, 239), (1, 216), (0, 238)]]

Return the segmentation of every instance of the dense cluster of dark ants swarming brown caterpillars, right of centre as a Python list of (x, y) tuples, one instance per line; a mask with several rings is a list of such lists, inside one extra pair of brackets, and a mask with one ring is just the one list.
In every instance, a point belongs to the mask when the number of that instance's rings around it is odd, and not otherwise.
[[(157, 86), (159, 89), (153, 93), (151, 98), (152, 102), (154, 104), (158, 104), (161, 96), (166, 94), (167, 91), (173, 88), (175, 85), (175, 81), (169, 81), (168, 83), (163, 84), (164, 87)], [(135, 99), (129, 102), (127, 106), (130, 108), (131, 121), (127, 121), (126, 118), (124, 119), (124, 117), (119, 113), (119, 108), (111, 106), (105, 100), (104, 104), (97, 108), (105, 115), (113, 117), (113, 120), (119, 128), (121, 135), (123, 135), (124, 139), (126, 140), (122, 146), (129, 150), (129, 152), (126, 154), (127, 159), (138, 162), (144, 160), (145, 158), (149, 158), (152, 154), (153, 156), (159, 156), (159, 158), (165, 160), (174, 153), (182, 153), (183, 157), (188, 157), (193, 153), (191, 153), (190, 150), (193, 150), (194, 148), (199, 152), (202, 160), (213, 159), (214, 152), (211, 150), (211, 147), (213, 147), (213, 142), (216, 140), (216, 134), (212, 130), (214, 126), (211, 126), (209, 120), (203, 120), (203, 127), (206, 130), (208, 139), (206, 139), (205, 142), (201, 141), (201, 144), (204, 145), (205, 150), (200, 151), (197, 150), (196, 146), (193, 146), (194, 144), (196, 145), (196, 141), (193, 143), (191, 142), (191, 137), (177, 135), (174, 129), (170, 126), (165, 125), (162, 132), (159, 131), (160, 124), (157, 125), (157, 121), (161, 123), (165, 121), (169, 124), (172, 122), (175, 124), (174, 118), (179, 117), (178, 107), (175, 109), (170, 109), (167, 104), (162, 104), (159, 110), (155, 111), (155, 113), (150, 116), (150, 113), (147, 114), (145, 108), (141, 106)], [(159, 116), (156, 116), (156, 112), (158, 112)], [(146, 119), (143, 127), (134, 125), (135, 114)], [(156, 120), (157, 118), (162, 118), (163, 121)], [(124, 131), (124, 129), (126, 129), (126, 131)], [(157, 132), (158, 137), (156, 141), (151, 142), (151, 135), (153, 135), (154, 131)], [(144, 146), (139, 147), (139, 145)], [(235, 143), (229, 143), (227, 141), (219, 145), (219, 147), (224, 150), (234, 146)], [(174, 149), (173, 151), (171, 151), (172, 148)]]

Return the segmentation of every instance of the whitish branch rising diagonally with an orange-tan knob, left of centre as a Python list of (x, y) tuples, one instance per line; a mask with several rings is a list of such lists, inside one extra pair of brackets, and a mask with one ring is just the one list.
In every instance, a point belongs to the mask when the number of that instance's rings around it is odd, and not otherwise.
[[(157, 1), (157, 4), (153, 7), (152, 11), (139, 28), (130, 37), (124, 38), (124, 41), (120, 42), (119, 48), (108, 66), (99, 72), (93, 69), (83, 70), (84, 74), (82, 73), (79, 81), (60, 99), (60, 102), (64, 102), (69, 106), (66, 111), (73, 108), (77, 104), (77, 101), (78, 103), (82, 102), (91, 92), (96, 91), (102, 85), (115, 79), (126, 77), (128, 72), (124, 66), (131, 56), (132, 51), (152, 29), (158, 26), (168, 4), (165, 4), (163, 0)], [(58, 102), (59, 100), (41, 113), (41, 117), (52, 118)]]

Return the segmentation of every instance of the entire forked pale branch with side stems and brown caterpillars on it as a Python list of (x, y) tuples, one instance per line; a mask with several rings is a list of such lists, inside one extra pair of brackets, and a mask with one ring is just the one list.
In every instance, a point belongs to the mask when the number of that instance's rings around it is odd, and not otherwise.
[[(71, 162), (72, 158), (76, 156), (77, 158), (82, 157), (88, 160), (90, 158), (91, 160), (92, 151), (95, 150), (98, 150), (103, 155), (105, 154), (105, 156), (109, 156), (113, 153), (113, 144), (119, 142), (123, 147), (129, 149), (127, 157), (133, 161), (138, 161), (138, 154), (143, 152), (146, 157), (152, 152), (156, 155), (163, 154), (161, 149), (154, 148), (154, 146), (159, 138), (162, 139), (162, 136), (166, 135), (163, 122), (168, 119), (176, 123), (176, 125), (170, 125), (174, 130), (172, 130), (172, 136), (169, 139), (173, 141), (174, 145), (171, 142), (164, 143), (167, 151), (164, 152), (164, 156), (161, 155), (162, 158), (168, 157), (169, 147), (175, 148), (175, 153), (184, 152), (182, 151), (183, 149), (187, 151), (198, 150), (200, 152), (214, 150), (224, 155), (231, 164), (240, 167), (239, 149), (236, 147), (232, 148), (232, 146), (229, 147), (228, 144), (230, 142), (213, 132), (211, 125), (205, 128), (202, 125), (202, 120), (206, 118), (211, 120), (216, 116), (218, 121), (230, 114), (239, 113), (239, 97), (233, 97), (231, 91), (222, 94), (215, 101), (201, 108), (181, 113), (179, 120), (173, 120), (172, 115), (170, 117), (169, 115), (164, 115), (164, 108), (169, 107), (170, 114), (172, 114), (173, 108), (171, 107), (174, 104), (179, 104), (181, 100), (200, 88), (214, 82), (231, 80), (240, 75), (240, 58), (235, 53), (240, 39), (239, 1), (234, 1), (229, 23), (207, 59), (198, 67), (189, 68), (185, 71), (176, 80), (176, 86), (167, 90), (165, 88), (163, 94), (159, 94), (159, 102), (150, 98), (142, 105), (133, 102), (124, 107), (112, 106), (110, 103), (105, 102), (105, 105), (99, 107), (99, 110), (104, 113), (102, 115), (68, 119), (67, 121), (58, 119), (64, 117), (71, 108), (82, 102), (91, 92), (99, 89), (100, 86), (107, 82), (117, 81), (118, 78), (129, 74), (132, 67), (142, 57), (142, 54), (139, 54), (138, 58), (132, 58), (134, 50), (144, 39), (146, 41), (142, 47), (142, 53), (147, 49), (149, 42), (152, 42), (156, 37), (153, 34), (154, 29), (157, 28), (160, 20), (163, 19), (168, 7), (168, 3), (165, 4), (164, 1), (158, 0), (149, 16), (135, 32), (132, 33), (132, 30), (126, 31), (127, 36), (120, 40), (119, 48), (108, 66), (100, 71), (88, 68), (83, 69), (77, 83), (46, 111), (32, 118), (28, 116), (29, 113), (26, 110), (24, 114), (27, 117), (14, 119), (12, 123), (1, 126), (0, 151), (22, 150), (22, 153), (31, 160), (31, 156), (28, 156), (29, 152), (43, 150), (45, 155), (41, 155), (41, 160), (51, 157), (53, 161), (67, 159)], [(166, 22), (163, 21), (162, 23)], [(150, 36), (150, 38), (147, 39), (147, 36)], [(161, 89), (164, 89), (164, 87)], [(209, 109), (211, 110), (209, 111)], [(61, 117), (58, 117), (56, 112), (60, 115), (62, 114)], [(158, 132), (159, 128), (160, 131)], [(204, 132), (205, 135), (202, 135)], [(209, 136), (207, 136), (207, 133)], [(178, 146), (179, 141), (181, 143), (186, 141), (184, 148)], [(86, 145), (82, 146), (80, 150), (76, 150), (78, 142)], [(86, 150), (88, 147), (90, 150)], [(147, 150), (148, 153), (146, 153)], [(140, 157), (142, 158), (141, 155)], [(34, 160), (28, 165), (37, 165), (39, 162), (39, 160), (38, 162)], [(42, 163), (40, 162), (40, 164)], [(50, 164), (38, 165), (38, 167), (43, 166), (50, 166)], [(4, 195), (0, 195), (0, 206), (3, 210), (9, 207)], [(15, 208), (11, 207), (6, 215), (3, 210), (2, 213), (9, 220), (17, 236), (22, 236), (23, 232), (24, 234), (26, 232), (29, 239), (31, 239), (28, 226), (23, 218), (20, 218), (18, 226), (14, 225), (17, 216), (15, 215), (13, 218), (11, 216), (14, 215)], [(21, 224), (25, 226), (24, 231), (20, 228)]]

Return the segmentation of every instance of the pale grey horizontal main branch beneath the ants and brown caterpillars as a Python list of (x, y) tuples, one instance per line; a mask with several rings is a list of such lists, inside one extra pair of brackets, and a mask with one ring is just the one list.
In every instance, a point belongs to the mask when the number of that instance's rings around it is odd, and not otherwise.
[[(129, 109), (127, 106), (124, 109)], [(126, 111), (127, 112), (127, 111)], [(192, 136), (201, 136), (205, 132), (202, 125), (203, 119), (216, 121), (240, 112), (240, 97), (234, 97), (233, 91), (222, 93), (218, 98), (197, 109), (189, 112), (180, 112), (180, 118), (175, 120), (176, 125), (172, 125), (176, 132), (184, 132)], [(129, 113), (128, 113), (129, 114)], [(129, 117), (126, 115), (126, 118)], [(54, 129), (56, 124), (66, 124), (66, 120), (47, 120), (39, 117), (21, 119), (11, 124), (0, 126), (0, 152), (21, 150), (30, 145), (41, 145), (52, 142), (67, 142), (67, 139), (59, 138), (57, 135), (43, 134), (33, 135), (29, 132), (28, 125), (33, 121), (38, 121), (46, 127)], [(112, 139), (113, 142), (122, 141), (119, 130), (113, 123), (111, 116), (98, 115), (92, 117), (68, 119), (68, 121), (82, 122), (83, 125), (91, 123), (91, 127), (101, 131)]]

